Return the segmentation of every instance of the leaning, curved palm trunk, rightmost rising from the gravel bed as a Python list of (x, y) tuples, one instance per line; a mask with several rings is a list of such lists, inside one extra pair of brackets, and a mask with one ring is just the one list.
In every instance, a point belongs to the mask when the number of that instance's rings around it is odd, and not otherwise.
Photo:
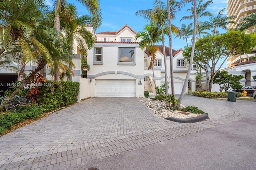
[(188, 79), (189, 79), (191, 68), (192, 68), (192, 65), (193, 65), (194, 52), (195, 52), (195, 43), (196, 43), (196, 0), (193, 1), (193, 5), (194, 5), (193, 42), (192, 42), (192, 49), (191, 49), (191, 56), (190, 56), (190, 62), (189, 62), (189, 67), (188, 67), (188, 73), (186, 75), (185, 82), (184, 82), (184, 85), (182, 87), (182, 91), (181, 91), (180, 98), (179, 98), (180, 99), (180, 103), (183, 100), (185, 91), (186, 91), (187, 86), (188, 86)]

